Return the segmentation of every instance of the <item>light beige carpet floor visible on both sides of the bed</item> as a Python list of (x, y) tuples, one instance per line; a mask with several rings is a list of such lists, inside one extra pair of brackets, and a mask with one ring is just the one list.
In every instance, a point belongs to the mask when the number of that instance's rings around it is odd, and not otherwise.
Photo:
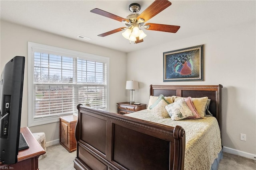
[[(61, 145), (47, 147), (47, 156), (39, 157), (38, 166), (40, 170), (75, 170), (74, 158), (76, 151), (68, 152)], [(200, 169), (200, 168), (197, 168)], [(256, 160), (223, 152), (218, 170), (255, 170)]]

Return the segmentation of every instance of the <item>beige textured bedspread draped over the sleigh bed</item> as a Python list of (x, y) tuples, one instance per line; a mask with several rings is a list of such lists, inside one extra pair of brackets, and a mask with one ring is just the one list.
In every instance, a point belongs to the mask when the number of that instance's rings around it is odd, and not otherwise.
[(215, 117), (172, 121), (171, 118), (156, 117), (148, 110), (137, 111), (127, 116), (172, 127), (183, 127), (186, 133), (185, 170), (210, 170), (222, 149), (220, 129)]

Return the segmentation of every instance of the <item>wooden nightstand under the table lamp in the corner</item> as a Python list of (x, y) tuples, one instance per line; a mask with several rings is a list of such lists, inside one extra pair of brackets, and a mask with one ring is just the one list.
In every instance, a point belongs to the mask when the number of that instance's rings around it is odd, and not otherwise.
[(130, 104), (130, 102), (122, 102), (117, 104), (117, 113), (118, 114), (128, 114), (135, 111), (140, 111), (146, 109), (146, 104)]

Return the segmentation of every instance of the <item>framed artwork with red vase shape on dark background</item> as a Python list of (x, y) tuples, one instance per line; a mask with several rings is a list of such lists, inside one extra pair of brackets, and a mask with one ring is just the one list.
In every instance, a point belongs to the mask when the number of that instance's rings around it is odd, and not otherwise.
[(164, 82), (203, 81), (203, 47), (164, 52)]

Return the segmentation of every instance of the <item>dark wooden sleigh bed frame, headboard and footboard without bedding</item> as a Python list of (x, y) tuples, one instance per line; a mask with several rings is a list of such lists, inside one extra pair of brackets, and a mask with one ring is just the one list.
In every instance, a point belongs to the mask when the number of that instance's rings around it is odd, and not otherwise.
[[(221, 128), (221, 89), (214, 86), (150, 85), (150, 96), (211, 99), (209, 110)], [(77, 170), (183, 170), (186, 132), (117, 113), (78, 105)]]

